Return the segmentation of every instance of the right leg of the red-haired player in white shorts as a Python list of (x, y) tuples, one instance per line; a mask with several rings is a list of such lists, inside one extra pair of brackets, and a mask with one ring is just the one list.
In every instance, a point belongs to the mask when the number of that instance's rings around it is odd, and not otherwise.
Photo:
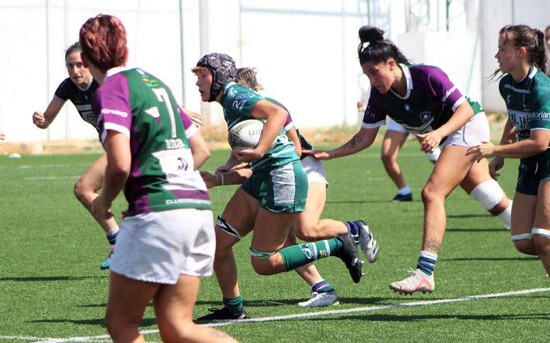
[(162, 285), (155, 294), (155, 317), (163, 342), (236, 342), (221, 331), (192, 321), (200, 278), (181, 274), (175, 285)]

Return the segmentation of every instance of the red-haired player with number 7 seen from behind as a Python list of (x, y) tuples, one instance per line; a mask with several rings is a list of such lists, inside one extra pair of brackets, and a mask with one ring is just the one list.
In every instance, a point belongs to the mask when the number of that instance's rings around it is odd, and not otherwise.
[[(199, 172), (206, 143), (170, 88), (128, 59), (126, 30), (100, 14), (80, 28), (83, 62), (98, 80), (92, 110), (107, 152), (103, 191), (92, 205), (109, 217), (124, 187), (129, 209), (111, 262), (105, 321), (115, 342), (144, 342), (139, 332), (154, 300), (165, 342), (234, 342), (192, 320), (200, 276), (212, 274), (212, 205)], [(181, 224), (186, 223), (186, 224)]]

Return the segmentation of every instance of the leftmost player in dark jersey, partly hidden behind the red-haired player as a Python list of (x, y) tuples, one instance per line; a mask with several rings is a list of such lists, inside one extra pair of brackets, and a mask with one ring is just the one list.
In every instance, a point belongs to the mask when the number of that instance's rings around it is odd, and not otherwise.
[[(76, 42), (65, 51), (65, 62), (69, 78), (66, 78), (57, 87), (54, 98), (47, 106), (44, 113), (35, 112), (32, 115), (32, 122), (39, 128), (45, 129), (56, 119), (63, 104), (70, 100), (78, 114), (84, 121), (94, 126), (99, 132), (96, 115), (91, 110), (91, 98), (99, 87), (99, 84), (90, 74), (87, 67), (80, 59), (80, 43)], [(107, 165), (107, 155), (103, 154), (88, 170), (80, 176), (74, 185), (74, 195), (91, 213), (91, 203), (98, 197), (98, 190), (101, 189), (105, 166)], [(118, 235), (118, 224), (114, 217), (98, 218), (91, 213), (96, 222), (100, 224), (105, 231), (107, 241), (109, 242), (109, 254), (100, 268), (109, 269), (111, 257), (115, 251), (116, 237)]]

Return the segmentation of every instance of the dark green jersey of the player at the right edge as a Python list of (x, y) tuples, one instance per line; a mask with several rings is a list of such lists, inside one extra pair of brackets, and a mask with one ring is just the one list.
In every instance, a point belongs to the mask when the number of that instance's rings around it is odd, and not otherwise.
[[(506, 102), (508, 117), (516, 127), (518, 140), (531, 137), (531, 130), (550, 130), (550, 78), (546, 74), (531, 66), (520, 82), (515, 82), (509, 74), (504, 75), (498, 91)], [(527, 159), (549, 157), (547, 149)]]

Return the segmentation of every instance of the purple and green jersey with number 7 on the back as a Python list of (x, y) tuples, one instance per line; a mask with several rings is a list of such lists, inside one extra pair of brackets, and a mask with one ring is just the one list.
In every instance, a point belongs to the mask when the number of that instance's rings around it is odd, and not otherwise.
[(92, 108), (102, 141), (108, 130), (130, 139), (125, 215), (212, 208), (188, 142), (197, 128), (161, 80), (139, 68), (111, 69), (94, 95)]

